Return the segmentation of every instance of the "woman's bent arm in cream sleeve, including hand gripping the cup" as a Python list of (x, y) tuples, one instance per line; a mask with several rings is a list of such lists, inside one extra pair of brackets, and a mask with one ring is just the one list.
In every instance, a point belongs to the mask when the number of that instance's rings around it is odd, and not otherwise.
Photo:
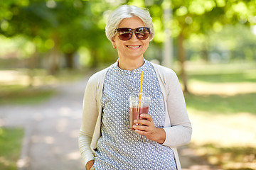
[[(165, 128), (156, 128), (150, 115), (142, 114), (145, 120), (134, 120), (135, 132), (145, 135), (149, 140), (154, 140), (168, 147), (186, 145), (191, 140), (191, 123), (186, 112), (186, 103), (178, 81), (178, 77), (171, 69), (165, 69), (161, 79), (165, 85), (164, 96), (166, 112), (169, 115), (171, 125)], [(164, 78), (165, 77), (165, 78)]]

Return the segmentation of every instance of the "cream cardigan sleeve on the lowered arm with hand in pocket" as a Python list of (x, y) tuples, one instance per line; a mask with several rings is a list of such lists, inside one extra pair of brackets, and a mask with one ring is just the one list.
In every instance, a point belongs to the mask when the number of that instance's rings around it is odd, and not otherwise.
[(95, 125), (98, 116), (97, 110), (97, 79), (94, 76), (90, 77), (85, 88), (82, 108), (82, 125), (78, 137), (78, 145), (82, 160), (86, 165), (87, 162), (94, 159), (90, 145), (92, 136), (95, 131)]

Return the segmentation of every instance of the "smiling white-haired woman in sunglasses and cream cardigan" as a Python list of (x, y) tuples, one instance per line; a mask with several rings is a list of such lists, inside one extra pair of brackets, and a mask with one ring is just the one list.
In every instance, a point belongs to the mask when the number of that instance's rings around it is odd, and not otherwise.
[[(176, 147), (191, 140), (191, 123), (176, 74), (144, 59), (154, 37), (152, 18), (137, 6), (119, 6), (107, 38), (118, 60), (92, 75), (85, 88), (79, 147), (86, 169), (181, 169)], [(129, 95), (151, 97), (149, 114), (129, 128)]]

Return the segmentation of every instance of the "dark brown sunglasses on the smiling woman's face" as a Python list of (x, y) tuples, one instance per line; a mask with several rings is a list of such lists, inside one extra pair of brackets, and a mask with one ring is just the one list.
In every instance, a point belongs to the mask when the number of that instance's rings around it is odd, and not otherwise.
[(120, 40), (130, 40), (132, 38), (133, 32), (139, 40), (146, 40), (149, 37), (150, 29), (148, 27), (139, 28), (117, 28), (116, 32)]

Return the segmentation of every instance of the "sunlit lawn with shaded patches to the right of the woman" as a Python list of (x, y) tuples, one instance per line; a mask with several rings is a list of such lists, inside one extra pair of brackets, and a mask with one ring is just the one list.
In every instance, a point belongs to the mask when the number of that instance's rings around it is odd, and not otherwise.
[(256, 169), (255, 66), (188, 65), (190, 146), (224, 170)]

